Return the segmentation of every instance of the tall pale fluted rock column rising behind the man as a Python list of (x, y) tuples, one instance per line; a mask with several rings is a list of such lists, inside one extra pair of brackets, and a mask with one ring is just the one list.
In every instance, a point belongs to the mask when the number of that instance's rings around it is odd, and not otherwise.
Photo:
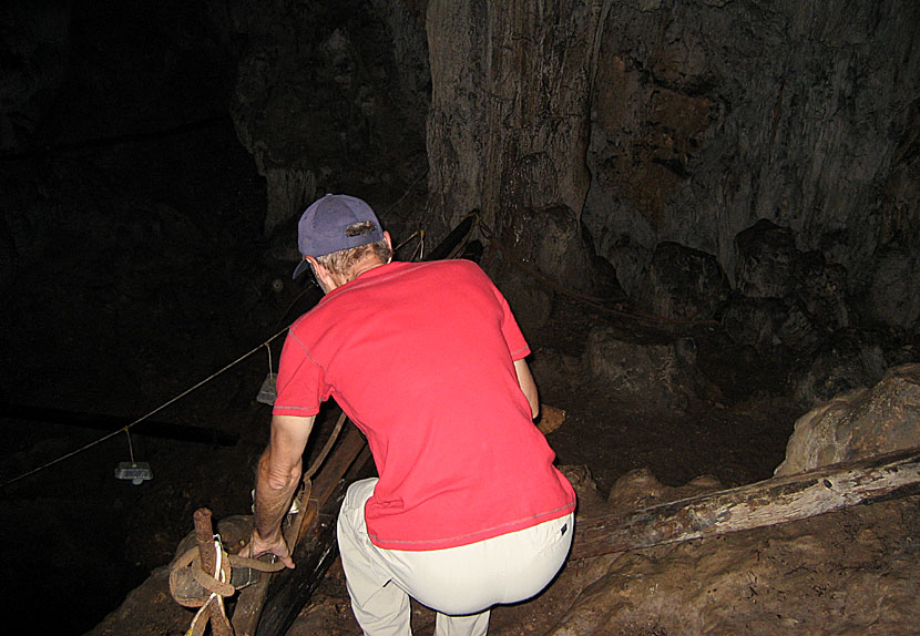
[[(452, 226), (479, 209), (520, 258), (575, 288), (590, 264), (580, 217), (599, 13), (571, 0), (435, 0), (427, 13), (429, 212)], [(513, 287), (524, 305), (532, 290)]]

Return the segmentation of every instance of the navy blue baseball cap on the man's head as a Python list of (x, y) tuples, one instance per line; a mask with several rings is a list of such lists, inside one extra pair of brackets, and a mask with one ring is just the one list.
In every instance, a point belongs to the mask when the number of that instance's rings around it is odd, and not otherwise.
[[(326, 256), (384, 240), (380, 222), (370, 206), (347, 194), (327, 194), (310, 205), (297, 224), (297, 246), (303, 256)], [(306, 259), (294, 270), (297, 278), (309, 267)]]

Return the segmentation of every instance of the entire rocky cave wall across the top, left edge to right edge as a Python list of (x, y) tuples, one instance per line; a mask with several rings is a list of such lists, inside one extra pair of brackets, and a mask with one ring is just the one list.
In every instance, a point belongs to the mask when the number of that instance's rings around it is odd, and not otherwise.
[[(425, 226), (437, 238), (479, 211), (551, 278), (596, 294), (610, 275), (597, 255), (635, 296), (667, 242), (715, 255), (735, 285), (736, 237), (768, 219), (797, 249), (844, 266), (873, 319), (920, 328), (916, 2), (134, 0), (0, 11), (3, 153), (229, 111), (266, 179), (266, 235), (289, 229), (321, 192), (382, 205), (427, 172), (427, 209), (382, 211), (398, 234)], [(548, 293), (494, 250), (484, 264), (535, 308), (534, 322), (545, 318)]]

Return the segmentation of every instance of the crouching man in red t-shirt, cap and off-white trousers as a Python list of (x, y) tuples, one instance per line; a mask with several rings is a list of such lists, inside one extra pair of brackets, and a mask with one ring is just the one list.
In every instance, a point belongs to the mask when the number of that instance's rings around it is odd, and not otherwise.
[(530, 349), (473, 263), (391, 263), (370, 206), (326, 195), (300, 217), (326, 296), (292, 327), (256, 478), (252, 553), (294, 567), (279, 524), (329, 397), (367, 435), (379, 479), (348, 489), (338, 543), (369, 636), (409, 635), (409, 596), (436, 634), (482, 635), (489, 607), (538, 594), (572, 542), (575, 494), (533, 425)]

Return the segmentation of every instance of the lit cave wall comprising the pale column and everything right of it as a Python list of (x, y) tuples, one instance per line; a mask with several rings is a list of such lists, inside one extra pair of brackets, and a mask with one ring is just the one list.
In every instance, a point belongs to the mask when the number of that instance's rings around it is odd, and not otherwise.
[(761, 218), (844, 265), (857, 295), (918, 280), (918, 12), (432, 1), (430, 211), (452, 224), (480, 208), (566, 283), (590, 261), (583, 226), (627, 291), (662, 242), (716, 255), (734, 279), (735, 238)]

